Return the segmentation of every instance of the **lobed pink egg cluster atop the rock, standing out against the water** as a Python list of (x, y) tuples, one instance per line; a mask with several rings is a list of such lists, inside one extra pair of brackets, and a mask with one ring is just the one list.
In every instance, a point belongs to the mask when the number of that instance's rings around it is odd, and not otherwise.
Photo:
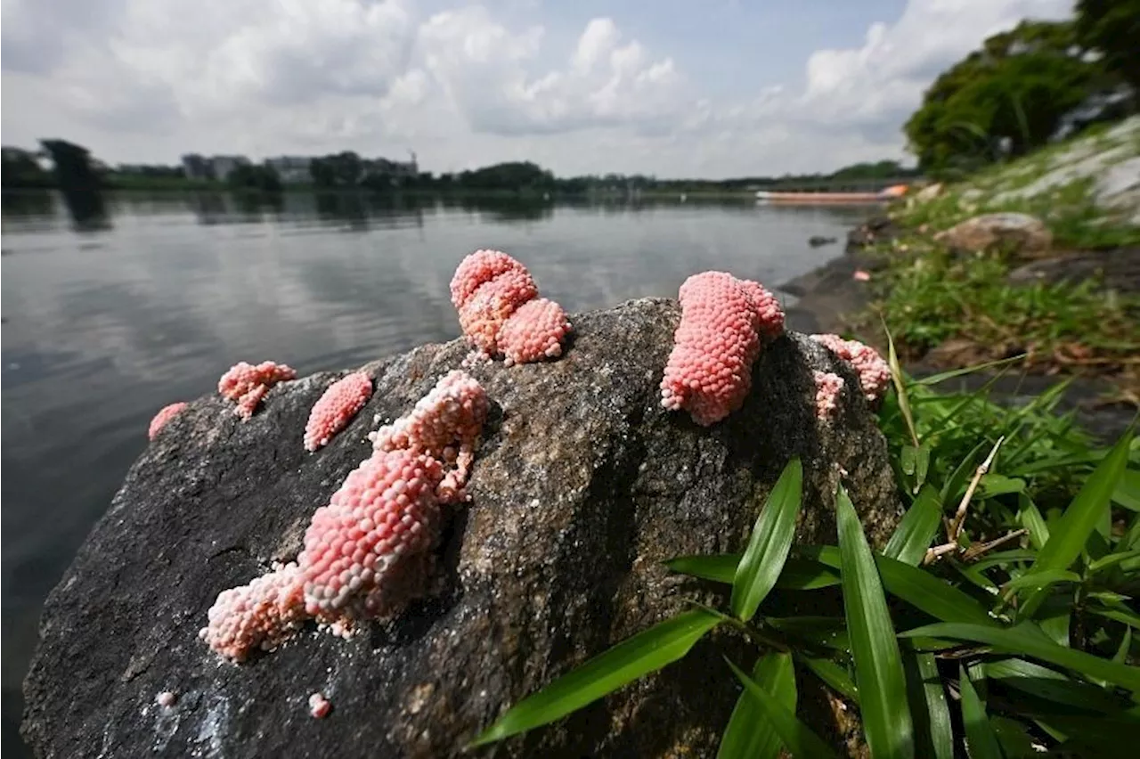
[[(507, 364), (529, 364), (562, 353), (570, 320), (557, 303), (538, 299), (527, 268), (502, 251), (475, 251), (451, 277), (451, 303), (471, 343)], [(537, 299), (537, 300), (536, 300)]]

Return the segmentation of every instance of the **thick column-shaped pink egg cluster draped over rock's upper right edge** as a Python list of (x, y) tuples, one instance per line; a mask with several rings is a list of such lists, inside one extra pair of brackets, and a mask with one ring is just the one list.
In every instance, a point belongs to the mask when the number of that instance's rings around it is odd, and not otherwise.
[(661, 406), (686, 409), (708, 426), (743, 406), (762, 340), (783, 332), (783, 310), (759, 283), (723, 271), (693, 275), (681, 286), (679, 300)]

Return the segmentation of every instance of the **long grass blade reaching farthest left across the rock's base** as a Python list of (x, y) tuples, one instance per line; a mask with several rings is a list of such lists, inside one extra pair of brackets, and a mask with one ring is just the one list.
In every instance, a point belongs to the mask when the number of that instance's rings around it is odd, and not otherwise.
[(483, 731), (471, 745), (500, 741), (581, 709), (638, 677), (682, 659), (720, 621), (716, 614), (694, 609), (659, 622), (527, 696)]

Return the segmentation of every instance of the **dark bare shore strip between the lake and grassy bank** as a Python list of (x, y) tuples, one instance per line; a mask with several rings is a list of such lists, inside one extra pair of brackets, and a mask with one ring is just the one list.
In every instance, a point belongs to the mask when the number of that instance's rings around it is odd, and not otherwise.
[[(864, 270), (873, 278), (877, 271), (885, 268), (881, 259), (864, 250), (861, 240), (865, 240), (868, 228), (879, 229), (883, 236), (895, 230), (883, 223), (886, 219), (873, 217), (868, 222), (850, 230), (847, 240), (841, 240), (842, 250), (821, 267), (781, 283), (776, 289), (795, 297), (795, 302), (785, 307), (788, 326), (797, 332), (813, 333), (855, 333), (860, 340), (886, 353), (886, 342), (881, 335), (866, 335), (856, 329), (855, 319), (873, 303), (874, 296), (869, 283), (854, 278), (856, 270)], [(880, 237), (881, 238), (881, 237)], [(945, 370), (947, 367), (934, 367), (923, 360), (910, 361), (903, 368), (915, 377), (923, 377)], [(993, 370), (976, 372), (955, 377), (942, 383), (943, 392), (974, 392), (990, 381), (994, 381), (991, 399), (1000, 403), (1024, 406), (1049, 387), (1068, 377), (1008, 370), (1004, 376), (996, 377)], [(1101, 377), (1073, 376), (1072, 384), (1066, 389), (1058, 410), (1060, 413), (1076, 411), (1077, 423), (1101, 442), (1112, 442), (1129, 427), (1135, 417), (1135, 411), (1125, 403), (1102, 403), (1101, 397), (1112, 389), (1112, 383)]]

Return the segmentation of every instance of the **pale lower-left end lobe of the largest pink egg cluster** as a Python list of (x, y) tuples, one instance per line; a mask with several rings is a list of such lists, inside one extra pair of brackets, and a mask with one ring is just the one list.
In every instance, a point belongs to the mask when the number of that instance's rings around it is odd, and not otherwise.
[(290, 563), (249, 585), (222, 590), (198, 636), (234, 661), (245, 661), (254, 648), (271, 651), (304, 621), (302, 587), (298, 565)]

